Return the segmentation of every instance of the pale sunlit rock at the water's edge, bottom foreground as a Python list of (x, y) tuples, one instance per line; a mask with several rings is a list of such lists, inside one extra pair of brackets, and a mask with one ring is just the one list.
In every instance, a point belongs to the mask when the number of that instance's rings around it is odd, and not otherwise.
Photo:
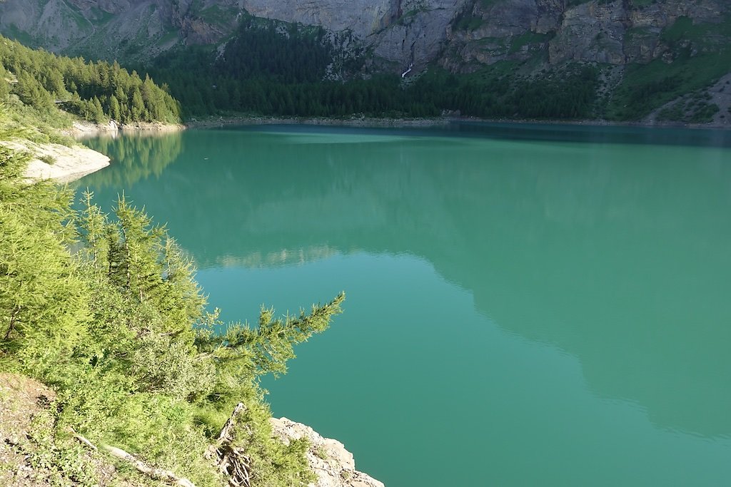
[(317, 474), (317, 483), (311, 483), (311, 487), (384, 487), (379, 480), (355, 469), (353, 454), (341, 442), (323, 438), (311, 427), (287, 418), (271, 418), (270, 422), (274, 434), (285, 443), (303, 437), (309, 440), (307, 461)]

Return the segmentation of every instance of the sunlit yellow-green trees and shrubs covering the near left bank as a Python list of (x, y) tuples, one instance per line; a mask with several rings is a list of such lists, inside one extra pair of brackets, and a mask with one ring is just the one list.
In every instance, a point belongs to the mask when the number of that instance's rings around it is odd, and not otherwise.
[[(1, 116), (0, 139), (18, 137)], [(292, 346), (325, 330), (344, 296), (285, 318), (263, 309), (257, 326), (221, 323), (164, 227), (124, 196), (113, 216), (88, 193), (75, 212), (67, 189), (23, 179), (27, 162), (0, 145), (0, 369), (57, 394), (53, 421), (12, 448), (54, 486), (99, 485), (102, 453), (80, 437), (223, 486), (232, 472), (206, 452), (241, 402), (230, 450), (245, 452), (243, 485), (306, 485), (306, 443), (273, 437), (258, 377), (285, 372)]]

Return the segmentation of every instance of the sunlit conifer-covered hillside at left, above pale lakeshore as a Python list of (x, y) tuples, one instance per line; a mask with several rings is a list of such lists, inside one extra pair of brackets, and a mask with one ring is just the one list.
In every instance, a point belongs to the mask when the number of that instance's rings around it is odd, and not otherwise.
[[(15, 95), (17, 99), (7, 99)], [(45, 119), (56, 107), (96, 123), (178, 123), (180, 107), (164, 87), (118, 63), (88, 62), (31, 50), (0, 37), (0, 101), (22, 103)]]

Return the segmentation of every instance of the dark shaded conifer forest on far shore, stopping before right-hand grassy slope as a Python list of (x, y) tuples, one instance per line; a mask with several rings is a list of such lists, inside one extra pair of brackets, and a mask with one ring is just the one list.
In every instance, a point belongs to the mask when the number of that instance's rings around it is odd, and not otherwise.
[(355, 64), (337, 58), (322, 28), (248, 18), (224, 50), (175, 50), (147, 69), (170, 85), (187, 116), (423, 117), (448, 110), (486, 118), (590, 118), (596, 108), (599, 69), (593, 66), (572, 64), (541, 77), (518, 74), (507, 61), (461, 76), (433, 66), (409, 83), (394, 74), (346, 82), (333, 76)]

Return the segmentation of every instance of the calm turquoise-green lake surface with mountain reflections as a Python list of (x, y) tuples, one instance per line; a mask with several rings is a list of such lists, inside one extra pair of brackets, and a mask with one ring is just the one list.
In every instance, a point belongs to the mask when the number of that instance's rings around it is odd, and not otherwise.
[(275, 415), (390, 487), (731, 485), (731, 132), (265, 126), (88, 142), (227, 320), (345, 290)]

